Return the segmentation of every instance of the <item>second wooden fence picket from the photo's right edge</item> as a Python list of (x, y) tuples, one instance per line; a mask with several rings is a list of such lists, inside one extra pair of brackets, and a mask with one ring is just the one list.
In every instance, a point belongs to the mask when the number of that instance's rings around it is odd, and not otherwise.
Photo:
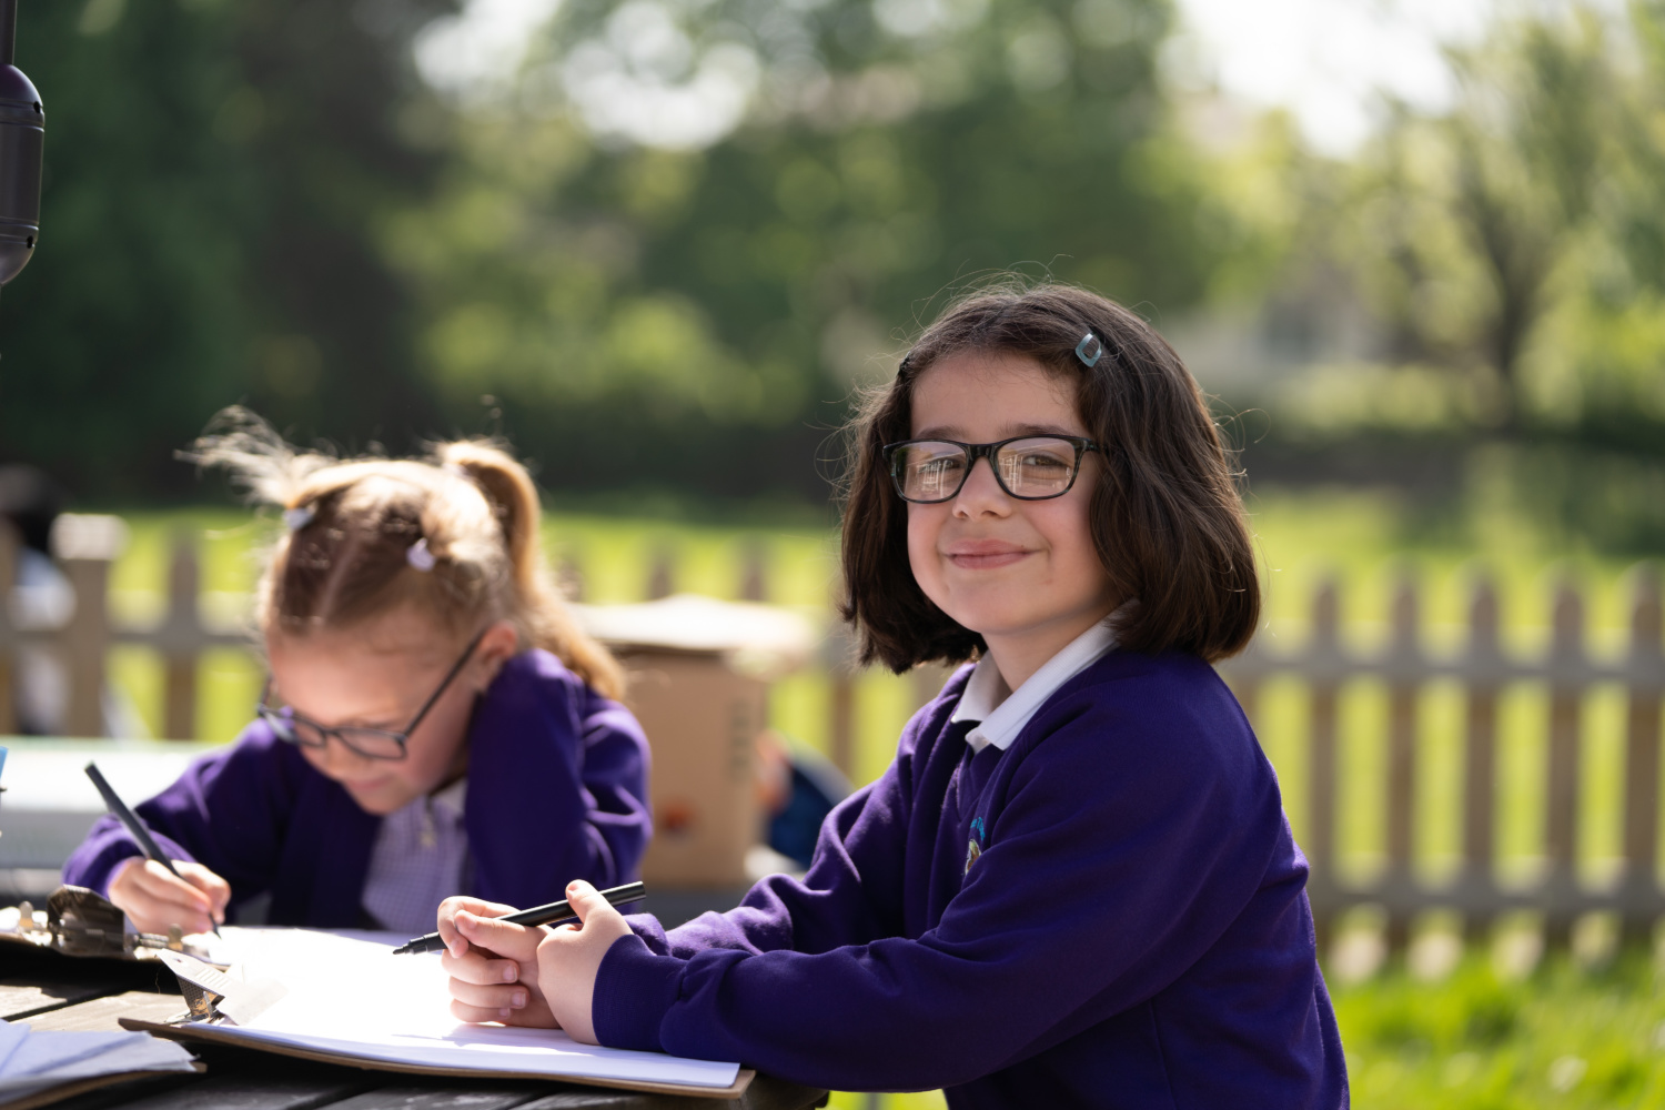
[(1562, 581), (1555, 589), (1550, 647), (1550, 744), (1545, 779), (1543, 942), (1565, 947), (1578, 895), (1578, 711), (1583, 694), (1583, 597)]

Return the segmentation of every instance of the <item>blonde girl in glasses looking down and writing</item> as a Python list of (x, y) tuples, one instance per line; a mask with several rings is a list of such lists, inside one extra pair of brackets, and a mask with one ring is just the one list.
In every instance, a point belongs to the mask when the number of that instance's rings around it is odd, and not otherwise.
[(496, 446), (426, 459), (296, 453), (228, 409), (188, 456), (223, 466), (285, 533), (260, 581), (271, 677), (256, 719), (63, 869), (143, 932), (266, 920), (428, 932), (453, 894), (524, 905), (636, 875), (648, 744), (618, 664), (538, 553), (538, 493)]

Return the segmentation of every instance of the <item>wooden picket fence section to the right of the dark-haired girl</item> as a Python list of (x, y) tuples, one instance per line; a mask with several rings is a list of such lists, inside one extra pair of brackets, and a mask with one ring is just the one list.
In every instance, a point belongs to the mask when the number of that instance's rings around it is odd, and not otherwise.
[[(1275, 652), (1259, 637), (1247, 652), (1222, 667), (1239, 701), (1255, 716), (1260, 687), (1292, 674), (1307, 687), (1307, 819), (1300, 845), (1312, 865), (1307, 884), (1320, 935), (1337, 915), (1355, 905), (1375, 905), (1387, 917), (1389, 947), (1402, 947), (1412, 922), (1429, 910), (1454, 910), (1470, 937), (1479, 937), (1508, 910), (1542, 914), (1545, 942), (1567, 942), (1583, 914), (1615, 914), (1622, 935), (1640, 942), (1665, 915), (1658, 882), (1660, 702), (1665, 694), (1665, 654), (1660, 637), (1660, 579), (1655, 567), (1638, 567), (1632, 579), (1630, 644), (1620, 659), (1597, 659), (1585, 642), (1585, 604), (1577, 587), (1562, 582), (1553, 597), (1552, 639), (1537, 657), (1505, 652), (1498, 642), (1498, 594), (1479, 581), (1469, 601), (1469, 637), (1460, 651), (1435, 656), (1424, 647), (1417, 584), (1402, 579), (1392, 601), (1392, 634), (1384, 651), (1350, 649), (1340, 636), (1335, 582), (1317, 591), (1312, 632), (1305, 647)], [(1387, 865), (1365, 882), (1347, 882), (1337, 869), (1337, 747), (1339, 701), (1349, 682), (1387, 687), (1385, 794)], [(1455, 681), (1465, 701), (1462, 865), (1454, 880), (1434, 884), (1419, 875), (1414, 854), (1417, 820), (1419, 697), (1430, 682)], [(1498, 810), (1498, 701), (1510, 686), (1537, 684), (1548, 691), (1548, 744), (1543, 782), (1542, 874), (1525, 885), (1500, 882), (1495, 842)], [(1578, 805), (1585, 746), (1582, 707), (1595, 686), (1622, 686), (1628, 699), (1623, 772), (1623, 860), (1617, 882), (1580, 880)]]

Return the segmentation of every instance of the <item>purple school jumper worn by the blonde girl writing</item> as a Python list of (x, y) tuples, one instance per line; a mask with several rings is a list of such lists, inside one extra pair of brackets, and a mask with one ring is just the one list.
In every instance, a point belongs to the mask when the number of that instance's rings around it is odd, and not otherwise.
[[(521, 652), (498, 671), (468, 726), (463, 825), (473, 879), (460, 894), (539, 905), (578, 877), (598, 887), (634, 879), (653, 829), (646, 799), (648, 741), (629, 711), (549, 652)], [(381, 817), (265, 722), (135, 809), (162, 850), (231, 884), (233, 910), (270, 892), (270, 924), (363, 924)], [(138, 845), (103, 817), (63, 865), (63, 882), (103, 892), (130, 855)]]

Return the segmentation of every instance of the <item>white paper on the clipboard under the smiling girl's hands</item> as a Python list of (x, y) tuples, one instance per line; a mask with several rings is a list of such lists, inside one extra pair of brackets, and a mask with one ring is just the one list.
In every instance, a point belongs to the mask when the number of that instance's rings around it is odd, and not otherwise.
[(450, 1012), (438, 955), (393, 955), (393, 934), (226, 929), (243, 979), (275, 979), (288, 995), (248, 1025), (216, 1028), (390, 1063), (729, 1087), (738, 1063), (581, 1045), (561, 1030), (468, 1025)]

